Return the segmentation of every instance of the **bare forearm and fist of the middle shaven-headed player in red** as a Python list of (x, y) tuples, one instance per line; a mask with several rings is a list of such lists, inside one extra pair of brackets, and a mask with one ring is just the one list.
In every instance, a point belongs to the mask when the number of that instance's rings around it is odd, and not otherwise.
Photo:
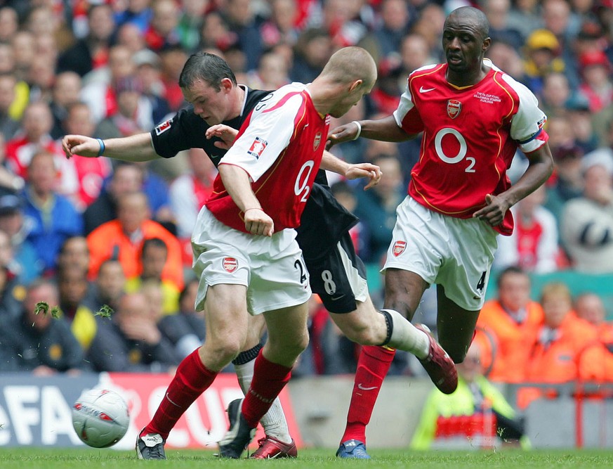
[(261, 236), (272, 236), (272, 233), (275, 233), (275, 224), (262, 210), (260, 201), (253, 193), (249, 174), (241, 167), (223, 163), (220, 163), (218, 171), (226, 191), (244, 213), (246, 231)]

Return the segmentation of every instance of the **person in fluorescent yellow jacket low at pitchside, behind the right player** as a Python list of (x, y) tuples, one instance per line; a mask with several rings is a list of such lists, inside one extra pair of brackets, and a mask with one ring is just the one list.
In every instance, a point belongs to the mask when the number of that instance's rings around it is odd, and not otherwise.
[(481, 349), (473, 342), (456, 364), (458, 387), (453, 394), (433, 389), (411, 440), (413, 449), (468, 449), (522, 446), (524, 425), (503, 394), (483, 375)]

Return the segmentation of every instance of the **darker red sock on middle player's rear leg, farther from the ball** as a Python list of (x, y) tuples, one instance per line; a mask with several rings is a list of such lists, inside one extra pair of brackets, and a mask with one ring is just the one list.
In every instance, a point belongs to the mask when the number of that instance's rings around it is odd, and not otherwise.
[(290, 377), (291, 368), (268, 361), (260, 351), (253, 364), (253, 380), (241, 409), (251, 428), (258, 426)]

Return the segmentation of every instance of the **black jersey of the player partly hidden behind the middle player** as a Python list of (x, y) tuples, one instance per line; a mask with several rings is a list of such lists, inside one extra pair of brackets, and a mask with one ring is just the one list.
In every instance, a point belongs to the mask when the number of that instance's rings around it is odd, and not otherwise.
[[(222, 122), (233, 129), (240, 129), (251, 110), (270, 93), (270, 91), (249, 89), (246, 86), (244, 89), (246, 97), (241, 115)], [(194, 113), (192, 106), (182, 109), (151, 131), (155, 153), (163, 158), (173, 158), (182, 150), (203, 148), (217, 166), (226, 150), (214, 145), (216, 141), (220, 141), (217, 137), (206, 139), (206, 129), (209, 127), (211, 126), (202, 117)], [(357, 223), (357, 217), (336, 201), (327, 184), (326, 172), (320, 169), (305, 205), (301, 224), (296, 229), (298, 231), (296, 240), (307, 262), (309, 259), (319, 259), (327, 255), (329, 250), (336, 247), (343, 233)]]

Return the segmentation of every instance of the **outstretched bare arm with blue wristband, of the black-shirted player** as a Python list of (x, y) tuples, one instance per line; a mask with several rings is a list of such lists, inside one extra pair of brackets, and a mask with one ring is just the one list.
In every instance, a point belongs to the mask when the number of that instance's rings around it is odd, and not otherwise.
[(121, 139), (100, 139), (84, 135), (65, 135), (62, 139), (62, 149), (67, 158), (72, 155), (95, 158), (107, 156), (115, 160), (148, 161), (162, 158), (153, 148), (151, 134), (131, 135)]

